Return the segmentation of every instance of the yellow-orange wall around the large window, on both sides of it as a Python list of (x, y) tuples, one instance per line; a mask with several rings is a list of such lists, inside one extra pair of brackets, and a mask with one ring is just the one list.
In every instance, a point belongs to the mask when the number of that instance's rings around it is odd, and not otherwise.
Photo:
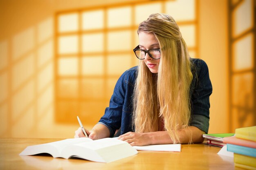
[[(0, 137), (74, 136), (78, 124), (55, 122), (54, 16), (115, 3), (0, 0)], [(198, 55), (207, 62), (213, 84), (209, 132), (234, 132), (229, 129), (227, 0), (198, 0), (198, 7)]]

